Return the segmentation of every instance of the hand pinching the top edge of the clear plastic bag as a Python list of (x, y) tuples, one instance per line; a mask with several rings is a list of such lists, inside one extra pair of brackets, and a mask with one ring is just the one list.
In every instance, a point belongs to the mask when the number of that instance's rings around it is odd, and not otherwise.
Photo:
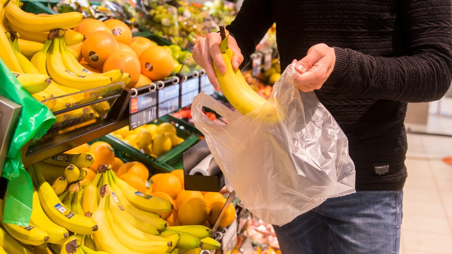
[(333, 72), (335, 61), (334, 48), (323, 43), (312, 46), (305, 57), (292, 61), (297, 63), (295, 70), (300, 73), (294, 78), (294, 84), (303, 92), (320, 89)]

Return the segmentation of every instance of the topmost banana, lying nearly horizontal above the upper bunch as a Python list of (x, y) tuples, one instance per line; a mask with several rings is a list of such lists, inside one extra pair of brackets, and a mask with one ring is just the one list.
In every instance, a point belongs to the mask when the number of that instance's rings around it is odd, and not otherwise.
[(19, 8), (19, 0), (10, 0), (5, 14), (10, 23), (33, 32), (48, 32), (55, 28), (70, 29), (83, 21), (83, 14), (76, 11), (49, 15), (28, 13)]

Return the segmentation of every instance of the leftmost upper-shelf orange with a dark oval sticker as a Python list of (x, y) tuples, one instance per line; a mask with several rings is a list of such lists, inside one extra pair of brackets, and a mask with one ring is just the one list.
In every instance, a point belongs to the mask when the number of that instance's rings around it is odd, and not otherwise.
[(107, 57), (117, 51), (119, 51), (118, 42), (113, 34), (105, 31), (90, 33), (82, 45), (83, 58), (97, 69), (102, 69)]

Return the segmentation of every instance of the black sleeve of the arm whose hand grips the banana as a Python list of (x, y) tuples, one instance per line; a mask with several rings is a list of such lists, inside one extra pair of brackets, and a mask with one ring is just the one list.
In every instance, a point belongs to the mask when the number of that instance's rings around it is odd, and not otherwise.
[(240, 11), (226, 29), (235, 38), (245, 66), (250, 61), (250, 55), (255, 52), (257, 44), (264, 38), (265, 33), (273, 25), (270, 4), (263, 0), (244, 0)]

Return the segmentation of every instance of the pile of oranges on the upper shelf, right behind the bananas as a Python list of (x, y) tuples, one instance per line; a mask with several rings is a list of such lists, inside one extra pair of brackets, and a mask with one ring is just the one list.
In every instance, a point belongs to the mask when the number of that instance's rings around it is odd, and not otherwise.
[(120, 69), (130, 74), (129, 88), (164, 80), (173, 70), (170, 52), (148, 38), (132, 37), (131, 28), (119, 19), (88, 18), (74, 30), (86, 38), (70, 46), (80, 54), (80, 63), (91, 72)]

